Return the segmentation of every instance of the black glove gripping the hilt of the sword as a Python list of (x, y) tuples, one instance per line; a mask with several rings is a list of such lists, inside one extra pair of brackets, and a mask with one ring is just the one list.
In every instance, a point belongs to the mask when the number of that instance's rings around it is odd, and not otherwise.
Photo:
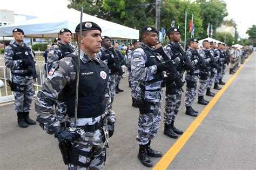
[(80, 135), (78, 133), (70, 133), (69, 128), (67, 127), (59, 127), (54, 137), (60, 138), (69, 142), (73, 142), (77, 140), (80, 137)]

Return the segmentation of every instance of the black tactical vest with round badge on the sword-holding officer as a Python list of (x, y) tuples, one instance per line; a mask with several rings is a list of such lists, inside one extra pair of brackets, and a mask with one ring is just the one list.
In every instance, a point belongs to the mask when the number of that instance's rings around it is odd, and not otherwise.
[[(75, 71), (77, 71), (77, 56), (70, 54)], [(78, 75), (76, 75), (78, 76)], [(78, 91), (77, 118), (93, 118), (105, 112), (104, 93), (109, 79), (109, 68), (99, 60), (80, 62), (80, 77)], [(75, 116), (76, 79), (67, 84), (64, 89), (64, 98), (67, 105), (66, 113), (69, 117)]]

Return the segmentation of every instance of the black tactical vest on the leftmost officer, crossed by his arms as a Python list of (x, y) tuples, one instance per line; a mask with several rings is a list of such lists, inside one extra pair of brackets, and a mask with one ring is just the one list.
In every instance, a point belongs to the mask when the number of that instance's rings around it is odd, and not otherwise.
[[(33, 58), (31, 55), (31, 50), (28, 46), (26, 46), (26, 44), (24, 44), (23, 46), (14, 46), (10, 44), (10, 46), (14, 51), (14, 56), (12, 57), (13, 60)], [(22, 67), (21, 69), (12, 69), (12, 70), (24, 70), (24, 72), (22, 73), (12, 72), (12, 74), (16, 76), (31, 76), (32, 74), (31, 70), (28, 70), (28, 66)]]

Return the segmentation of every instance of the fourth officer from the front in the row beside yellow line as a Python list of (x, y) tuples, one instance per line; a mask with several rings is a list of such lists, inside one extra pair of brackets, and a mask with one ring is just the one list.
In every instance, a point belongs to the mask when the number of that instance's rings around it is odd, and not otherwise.
[(203, 69), (200, 70), (199, 74), (199, 87), (198, 87), (198, 102), (199, 104), (202, 105), (207, 105), (209, 101), (204, 99), (204, 91), (207, 86), (207, 81), (208, 81), (208, 76), (211, 74), (211, 57), (209, 55), (209, 49), (210, 49), (210, 43), (208, 40), (203, 41), (203, 48), (199, 49), (199, 54), (200, 56), (204, 59), (205, 64), (208, 67), (209, 71), (205, 71)]

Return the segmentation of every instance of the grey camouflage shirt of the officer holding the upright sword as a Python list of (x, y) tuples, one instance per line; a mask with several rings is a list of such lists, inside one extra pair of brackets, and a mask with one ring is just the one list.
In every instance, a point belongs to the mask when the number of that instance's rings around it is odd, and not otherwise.
[[(76, 49), (76, 51), (72, 54), (78, 56), (78, 49)], [(87, 55), (84, 54), (85, 53), (81, 50), (80, 59), (84, 64), (86, 64), (90, 60), (96, 60), (96, 62), (98, 62), (96, 56), (90, 59)], [(71, 60), (71, 57), (65, 57), (56, 62), (55, 65), (53, 65), (52, 67), (52, 71), (54, 71), (52, 76), (48, 76), (45, 79), (45, 83), (43, 84), (42, 89), (37, 94), (37, 98), (35, 101), (37, 121), (39, 122), (43, 130), (46, 130), (46, 132), (49, 134), (55, 134), (59, 125), (59, 121), (53, 112), (53, 104), (56, 102), (59, 92), (64, 89), (65, 85), (70, 83), (71, 81), (76, 80), (76, 71)], [(58, 65), (58, 67), (56, 66), (56, 64)], [(105, 93), (107, 93), (107, 90), (105, 91)], [(105, 94), (105, 96), (107, 96), (107, 94)], [(106, 101), (110, 102), (108, 98), (106, 98)], [(104, 114), (95, 118), (78, 118), (77, 126), (93, 125), (99, 122), (100, 119), (104, 117), (106, 117), (107, 121), (115, 121), (114, 112), (106, 111)], [(72, 124), (74, 123), (74, 118), (69, 118), (67, 115), (66, 121), (69, 121), (72, 126)], [(95, 131), (94, 133), (96, 133), (94, 134), (96, 136), (100, 135), (99, 130)]]

